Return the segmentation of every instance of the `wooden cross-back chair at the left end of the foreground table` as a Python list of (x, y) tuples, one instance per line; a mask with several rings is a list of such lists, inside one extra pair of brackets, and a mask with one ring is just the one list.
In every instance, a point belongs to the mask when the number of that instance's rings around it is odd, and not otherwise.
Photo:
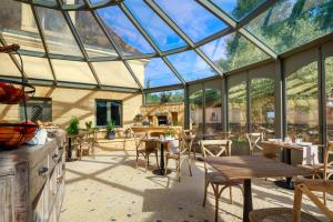
[[(230, 155), (231, 154), (231, 144), (232, 141), (230, 140), (201, 140), (201, 150), (203, 158), (206, 157), (221, 157), (221, 155)], [(222, 194), (222, 192), (225, 189), (230, 189), (230, 203), (233, 203), (232, 200), (232, 186), (238, 186), (243, 192), (243, 188), (241, 184), (243, 184), (243, 180), (229, 180), (224, 176), (222, 176), (219, 172), (209, 172), (208, 165), (204, 161), (204, 172), (205, 172), (205, 179), (204, 179), (204, 198), (202, 205), (205, 205), (205, 199), (206, 199), (206, 191), (209, 185), (211, 184), (214, 191), (215, 196), (215, 222), (218, 221), (218, 214), (219, 214), (219, 199)], [(222, 186), (222, 188), (221, 188)], [(221, 188), (221, 189), (220, 189)]]

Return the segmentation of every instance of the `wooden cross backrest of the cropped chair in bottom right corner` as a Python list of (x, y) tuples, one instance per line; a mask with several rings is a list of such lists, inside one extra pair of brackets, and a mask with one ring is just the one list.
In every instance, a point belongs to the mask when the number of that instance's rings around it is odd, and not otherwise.
[(332, 192), (333, 181), (302, 179), (295, 181), (293, 221), (301, 221), (302, 194), (304, 193), (327, 218), (333, 221), (333, 211), (329, 209), (312, 191)]

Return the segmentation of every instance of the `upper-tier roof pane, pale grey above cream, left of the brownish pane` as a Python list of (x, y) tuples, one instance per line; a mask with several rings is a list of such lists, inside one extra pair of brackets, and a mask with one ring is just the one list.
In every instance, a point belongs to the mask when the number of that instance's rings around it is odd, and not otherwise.
[(50, 53), (82, 57), (80, 48), (58, 10), (36, 7)]

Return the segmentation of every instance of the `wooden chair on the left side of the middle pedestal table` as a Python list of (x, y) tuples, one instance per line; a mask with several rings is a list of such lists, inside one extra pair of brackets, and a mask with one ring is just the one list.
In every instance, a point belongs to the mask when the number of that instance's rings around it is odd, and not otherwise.
[(144, 158), (144, 169), (145, 172), (148, 170), (149, 165), (149, 155), (154, 153), (157, 158), (157, 164), (159, 165), (159, 155), (158, 155), (158, 149), (157, 149), (157, 142), (154, 141), (142, 141), (142, 139), (147, 138), (147, 133), (134, 133), (133, 131), (131, 132), (132, 137), (134, 138), (135, 141), (135, 151), (137, 151), (137, 168), (139, 163), (139, 157), (142, 155)]

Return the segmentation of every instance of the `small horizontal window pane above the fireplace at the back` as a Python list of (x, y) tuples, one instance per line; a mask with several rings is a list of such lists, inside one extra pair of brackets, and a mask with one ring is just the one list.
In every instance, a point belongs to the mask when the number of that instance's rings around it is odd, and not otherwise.
[(184, 90), (172, 90), (145, 94), (145, 103), (183, 102)]

